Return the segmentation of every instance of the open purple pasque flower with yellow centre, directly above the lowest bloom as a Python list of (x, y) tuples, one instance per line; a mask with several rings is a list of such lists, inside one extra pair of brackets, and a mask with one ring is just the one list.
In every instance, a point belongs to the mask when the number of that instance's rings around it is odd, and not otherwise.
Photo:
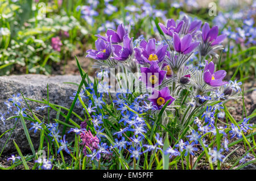
[(155, 62), (150, 65), (150, 68), (141, 68), (141, 80), (146, 84), (146, 87), (155, 87), (163, 82), (167, 71), (160, 70), (158, 64)]

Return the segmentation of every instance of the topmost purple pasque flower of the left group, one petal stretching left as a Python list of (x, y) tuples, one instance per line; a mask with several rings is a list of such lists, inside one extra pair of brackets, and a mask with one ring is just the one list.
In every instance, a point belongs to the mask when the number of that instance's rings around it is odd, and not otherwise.
[(121, 43), (123, 42), (123, 38), (126, 34), (127, 31), (125, 30), (125, 26), (123, 26), (123, 24), (119, 24), (119, 26), (117, 27), (117, 31), (108, 29), (106, 32), (106, 37), (101, 35), (96, 36), (101, 38), (102, 40), (109, 41), (111, 43)]

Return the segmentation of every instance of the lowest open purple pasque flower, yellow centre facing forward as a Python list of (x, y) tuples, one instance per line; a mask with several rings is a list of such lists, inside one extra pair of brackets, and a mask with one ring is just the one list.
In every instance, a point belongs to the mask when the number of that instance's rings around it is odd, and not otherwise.
[(160, 91), (154, 90), (153, 94), (148, 97), (148, 100), (160, 110), (168, 100), (171, 100), (170, 103), (168, 103), (168, 105), (170, 105), (175, 99), (171, 96), (168, 87), (164, 87)]

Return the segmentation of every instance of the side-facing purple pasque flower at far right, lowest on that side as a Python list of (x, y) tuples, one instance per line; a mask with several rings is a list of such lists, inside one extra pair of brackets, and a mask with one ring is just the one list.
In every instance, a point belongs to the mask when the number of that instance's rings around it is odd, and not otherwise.
[(210, 86), (218, 87), (227, 84), (228, 82), (223, 82), (222, 79), (226, 76), (225, 70), (218, 70), (214, 73), (214, 63), (211, 61), (208, 63), (205, 60), (204, 68), (204, 82)]

